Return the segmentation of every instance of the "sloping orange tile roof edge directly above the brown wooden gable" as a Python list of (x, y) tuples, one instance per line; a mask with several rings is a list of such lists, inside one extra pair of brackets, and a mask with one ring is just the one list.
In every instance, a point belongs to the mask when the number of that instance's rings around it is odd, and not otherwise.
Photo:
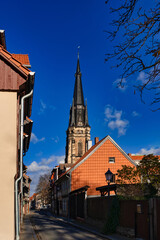
[(2, 57), (4, 57), (6, 60), (8, 60), (12, 65), (17, 67), (19, 71), (23, 72), (23, 74), (28, 75), (31, 71), (24, 67), (23, 64), (17, 59), (15, 59), (11, 53), (9, 53), (2, 45), (0, 45), (0, 54)]

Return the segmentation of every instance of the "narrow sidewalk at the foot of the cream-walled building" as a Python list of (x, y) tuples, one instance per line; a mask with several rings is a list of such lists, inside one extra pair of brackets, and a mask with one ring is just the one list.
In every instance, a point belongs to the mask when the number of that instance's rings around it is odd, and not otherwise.
[(20, 240), (38, 240), (30, 221), (30, 214), (24, 216), (20, 232)]

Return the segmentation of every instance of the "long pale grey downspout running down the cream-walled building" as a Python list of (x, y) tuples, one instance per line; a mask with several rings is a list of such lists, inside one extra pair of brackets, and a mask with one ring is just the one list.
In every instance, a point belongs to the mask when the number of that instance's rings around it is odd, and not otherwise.
[[(33, 72), (30, 75), (34, 75)], [(16, 211), (16, 240), (19, 240), (19, 206), (18, 206), (18, 183), (21, 180), (21, 200), (23, 201), (23, 128), (24, 128), (24, 101), (26, 98), (31, 97), (33, 94), (33, 89), (30, 93), (26, 94), (21, 99), (21, 118), (20, 118), (20, 175), (19, 178), (15, 181), (15, 211)], [(22, 202), (23, 203), (23, 202)], [(22, 212), (21, 212), (22, 215)]]

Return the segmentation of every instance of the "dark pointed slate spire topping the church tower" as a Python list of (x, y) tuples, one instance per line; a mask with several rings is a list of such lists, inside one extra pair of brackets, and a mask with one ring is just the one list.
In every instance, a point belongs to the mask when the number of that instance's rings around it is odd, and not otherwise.
[(80, 64), (79, 64), (79, 54), (77, 60), (77, 70), (75, 74), (76, 80), (74, 85), (74, 106), (76, 105), (83, 105), (84, 106), (84, 97), (83, 97), (83, 89), (82, 89), (82, 81), (81, 81), (81, 71), (80, 71)]

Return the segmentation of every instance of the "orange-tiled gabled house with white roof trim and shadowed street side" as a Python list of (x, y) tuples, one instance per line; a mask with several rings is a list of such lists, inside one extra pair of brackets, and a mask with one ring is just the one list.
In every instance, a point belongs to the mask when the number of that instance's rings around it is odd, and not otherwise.
[(101, 141), (96, 138), (93, 145), (71, 168), (55, 177), (53, 181), (54, 213), (69, 217), (86, 217), (86, 199), (100, 196), (96, 191), (106, 185), (108, 169), (116, 181), (117, 170), (122, 165), (136, 166), (136, 163), (110, 137)]

